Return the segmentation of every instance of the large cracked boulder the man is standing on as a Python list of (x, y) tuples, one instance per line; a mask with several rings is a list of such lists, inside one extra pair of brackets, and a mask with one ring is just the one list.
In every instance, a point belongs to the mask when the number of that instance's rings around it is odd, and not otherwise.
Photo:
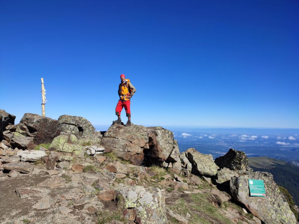
[(102, 145), (115, 152), (117, 157), (134, 165), (172, 163), (180, 171), (179, 147), (173, 133), (162, 127), (142, 125), (111, 125), (103, 136)]

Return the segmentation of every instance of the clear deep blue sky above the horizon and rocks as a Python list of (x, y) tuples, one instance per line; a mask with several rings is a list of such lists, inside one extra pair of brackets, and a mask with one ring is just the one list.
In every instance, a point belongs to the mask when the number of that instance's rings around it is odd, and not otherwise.
[[(17, 116), (299, 128), (299, 1), (0, 0), (0, 108)], [(122, 119), (126, 121), (123, 110)]]

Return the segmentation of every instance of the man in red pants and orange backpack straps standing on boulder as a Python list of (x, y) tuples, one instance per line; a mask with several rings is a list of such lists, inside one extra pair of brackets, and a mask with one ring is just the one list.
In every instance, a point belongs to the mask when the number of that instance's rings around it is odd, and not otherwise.
[(120, 112), (123, 108), (126, 110), (126, 116), (128, 121), (125, 126), (131, 125), (131, 111), (130, 111), (130, 99), (136, 92), (136, 88), (132, 85), (129, 79), (126, 79), (124, 74), (120, 75), (121, 83), (118, 86), (118, 96), (119, 100), (115, 108), (115, 114), (118, 116), (118, 119), (113, 121), (115, 124), (121, 125)]

